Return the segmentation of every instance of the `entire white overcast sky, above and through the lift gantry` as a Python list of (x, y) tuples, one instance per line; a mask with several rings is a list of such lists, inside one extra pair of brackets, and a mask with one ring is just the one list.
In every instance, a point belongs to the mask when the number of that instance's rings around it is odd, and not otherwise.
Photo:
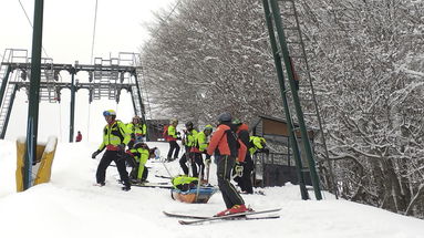
[[(0, 54), (4, 49), (25, 49), (31, 54), (34, 0), (0, 0)], [(94, 27), (95, 0), (44, 0), (43, 48), (54, 63), (91, 62)], [(152, 11), (169, 10), (175, 0), (99, 0), (94, 56), (108, 59), (118, 52), (138, 52), (143, 42), (148, 40), (146, 22), (152, 20)], [(64, 74), (63, 72), (61, 74)], [(83, 76), (77, 74), (77, 76)], [(124, 93), (124, 92), (123, 92)], [(39, 139), (50, 135), (59, 139), (69, 139), (70, 93), (62, 90), (62, 103), (40, 104)], [(15, 99), (8, 126), (7, 139), (25, 135), (28, 103), (21, 90)], [(101, 139), (101, 130), (105, 122), (101, 115), (104, 110), (114, 108), (118, 118), (128, 122), (134, 115), (131, 99), (122, 95), (121, 103), (102, 100), (89, 106), (87, 92), (76, 94), (75, 134), (82, 131), (84, 138)]]

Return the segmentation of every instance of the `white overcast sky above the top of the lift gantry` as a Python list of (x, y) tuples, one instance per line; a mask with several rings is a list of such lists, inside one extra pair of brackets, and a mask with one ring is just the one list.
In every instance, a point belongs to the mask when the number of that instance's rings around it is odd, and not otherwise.
[[(136, 52), (148, 38), (144, 27), (152, 11), (173, 7), (175, 0), (99, 0), (95, 56)], [(28, 49), (32, 43), (34, 0), (0, 1), (0, 52)], [(43, 46), (56, 63), (90, 63), (95, 0), (44, 0)], [(43, 54), (45, 56), (45, 54)]]

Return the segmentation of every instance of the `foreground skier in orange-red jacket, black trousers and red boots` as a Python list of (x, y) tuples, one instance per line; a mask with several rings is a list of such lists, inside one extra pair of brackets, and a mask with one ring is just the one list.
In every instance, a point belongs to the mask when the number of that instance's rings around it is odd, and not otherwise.
[(207, 147), (207, 154), (214, 154), (217, 161), (218, 187), (227, 207), (227, 209), (218, 213), (216, 216), (226, 216), (228, 214), (238, 214), (249, 210), (245, 205), (245, 200), (230, 182), (231, 170), (236, 165), (236, 161), (242, 162), (247, 151), (246, 145), (240, 142), (235, 132), (231, 131), (231, 114), (227, 112), (218, 116), (219, 125)]

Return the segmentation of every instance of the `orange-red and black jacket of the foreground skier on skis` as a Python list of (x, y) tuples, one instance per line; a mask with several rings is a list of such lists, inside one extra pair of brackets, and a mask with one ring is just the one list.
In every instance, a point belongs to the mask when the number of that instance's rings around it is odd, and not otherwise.
[(207, 148), (208, 155), (213, 155), (214, 152), (217, 155), (230, 155), (237, 157), (238, 162), (244, 162), (247, 147), (237, 138), (236, 133), (231, 132), (228, 125), (220, 124), (211, 136)]

